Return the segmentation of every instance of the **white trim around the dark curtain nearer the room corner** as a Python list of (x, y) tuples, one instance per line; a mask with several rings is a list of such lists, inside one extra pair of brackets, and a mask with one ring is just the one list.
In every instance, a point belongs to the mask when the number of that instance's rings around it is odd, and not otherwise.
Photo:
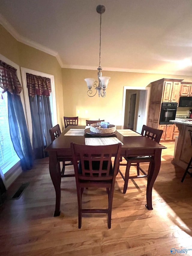
[(51, 80), (51, 93), (52, 93), (52, 105), (53, 105), (53, 121), (54, 121), (53, 126), (58, 123), (57, 122), (56, 99), (55, 99), (55, 82), (54, 82), (54, 76), (53, 75), (21, 67), (21, 77), (22, 77), (23, 92), (24, 92), (25, 105), (26, 105), (26, 114), (27, 114), (27, 127), (28, 127), (28, 131), (29, 131), (30, 141), (31, 141), (31, 144), (33, 145), (33, 143), (32, 143), (32, 134), (33, 134), (32, 119), (31, 119), (31, 110), (30, 110), (28, 89), (27, 89), (26, 73), (33, 74), (33, 75), (36, 75), (36, 76), (50, 78), (50, 80)]

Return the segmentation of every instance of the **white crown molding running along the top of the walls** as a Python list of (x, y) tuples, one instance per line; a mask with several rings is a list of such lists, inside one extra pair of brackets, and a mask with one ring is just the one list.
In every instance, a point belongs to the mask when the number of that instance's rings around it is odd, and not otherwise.
[[(48, 53), (55, 56), (61, 68), (72, 68), (72, 69), (87, 69), (87, 70), (97, 70), (98, 67), (94, 66), (82, 66), (82, 65), (65, 65), (63, 64), (61, 57), (58, 52), (55, 52), (41, 44), (38, 44), (32, 40), (29, 40), (21, 35), (10, 25), (10, 23), (0, 14), (0, 24), (19, 42), (29, 45), (37, 50)], [(191, 74), (186, 74), (182, 71), (160, 71), (160, 70), (145, 70), (145, 69), (129, 69), (129, 68), (103, 68), (103, 71), (117, 71), (117, 72), (132, 72), (132, 73), (147, 73), (147, 74), (168, 74), (168, 75), (182, 75), (191, 76)]]

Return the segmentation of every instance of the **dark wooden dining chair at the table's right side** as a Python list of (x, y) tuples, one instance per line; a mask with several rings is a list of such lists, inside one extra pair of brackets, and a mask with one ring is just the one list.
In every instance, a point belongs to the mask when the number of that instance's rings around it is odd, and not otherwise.
[[(159, 143), (161, 139), (161, 135), (163, 134), (163, 130), (155, 129), (146, 125), (143, 125), (141, 135), (154, 140)], [(125, 160), (127, 161), (126, 164), (123, 164), (119, 162), (119, 165), (124, 165), (126, 166), (125, 170), (125, 176), (122, 174), (122, 172), (119, 170), (119, 173), (121, 174), (123, 180), (125, 181), (124, 183), (124, 188), (123, 188), (123, 193), (125, 194), (127, 191), (128, 187), (128, 181), (129, 179), (138, 179), (138, 178), (147, 178), (150, 170), (150, 165), (152, 162), (152, 158), (150, 155), (147, 156), (131, 156), (131, 157), (124, 157)], [(147, 163), (149, 162), (149, 168), (148, 168), (148, 173), (146, 173), (141, 167), (140, 163)], [(130, 176), (129, 171), (131, 166), (136, 166), (137, 167), (137, 175), (135, 176)], [(140, 171), (143, 173), (143, 175), (140, 175)]]

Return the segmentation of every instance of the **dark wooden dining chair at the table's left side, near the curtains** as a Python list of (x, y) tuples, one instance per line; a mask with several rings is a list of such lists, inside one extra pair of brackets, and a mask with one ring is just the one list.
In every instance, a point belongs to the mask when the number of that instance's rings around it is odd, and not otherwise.
[[(51, 129), (49, 129), (49, 134), (51, 136), (51, 141), (53, 142), (57, 137), (59, 137), (59, 135), (61, 134), (61, 129), (59, 124), (53, 126)], [(65, 172), (65, 166), (67, 165), (73, 165), (73, 163), (71, 162), (71, 158), (67, 158), (67, 157), (62, 157), (61, 159), (59, 159), (60, 162), (63, 163), (63, 167), (61, 170), (61, 177), (74, 177), (75, 174), (64, 174)], [(66, 161), (70, 161), (70, 163), (66, 163)]]

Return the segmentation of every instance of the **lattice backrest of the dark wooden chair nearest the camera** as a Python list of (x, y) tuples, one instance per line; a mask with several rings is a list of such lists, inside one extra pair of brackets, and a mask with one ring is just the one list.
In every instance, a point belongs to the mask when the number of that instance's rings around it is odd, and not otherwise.
[[(105, 146), (89, 146), (71, 143), (73, 163), (77, 180), (110, 180), (117, 173), (121, 143)], [(112, 166), (111, 158), (115, 156)], [(80, 160), (80, 167), (77, 161)], [(80, 170), (79, 170), (80, 169)]]

